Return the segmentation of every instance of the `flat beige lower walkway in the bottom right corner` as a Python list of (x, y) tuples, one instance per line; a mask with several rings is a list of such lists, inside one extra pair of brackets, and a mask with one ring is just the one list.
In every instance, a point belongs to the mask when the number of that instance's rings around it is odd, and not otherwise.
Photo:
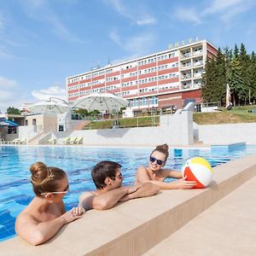
[(256, 255), (256, 177), (143, 255)]

